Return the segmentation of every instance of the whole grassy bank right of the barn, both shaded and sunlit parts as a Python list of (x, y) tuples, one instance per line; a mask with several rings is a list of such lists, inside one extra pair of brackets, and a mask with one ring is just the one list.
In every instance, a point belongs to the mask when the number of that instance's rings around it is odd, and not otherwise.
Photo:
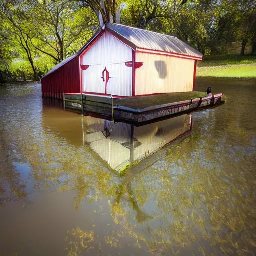
[(206, 56), (198, 62), (197, 77), (256, 78), (256, 56)]

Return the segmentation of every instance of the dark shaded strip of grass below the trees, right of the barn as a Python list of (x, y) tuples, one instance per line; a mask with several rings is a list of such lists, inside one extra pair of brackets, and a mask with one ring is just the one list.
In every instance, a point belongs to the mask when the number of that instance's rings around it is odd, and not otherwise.
[(238, 65), (238, 64), (256, 64), (256, 56), (251, 55), (220, 55), (220, 56), (205, 56), (203, 61), (198, 61), (197, 66), (223, 66), (223, 65)]

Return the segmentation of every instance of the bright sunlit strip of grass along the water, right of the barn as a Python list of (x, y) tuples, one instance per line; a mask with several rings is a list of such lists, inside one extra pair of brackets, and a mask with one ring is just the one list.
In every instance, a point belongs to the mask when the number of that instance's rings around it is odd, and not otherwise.
[(197, 77), (252, 78), (256, 77), (256, 63), (249, 65), (227, 65), (201, 67), (196, 70)]

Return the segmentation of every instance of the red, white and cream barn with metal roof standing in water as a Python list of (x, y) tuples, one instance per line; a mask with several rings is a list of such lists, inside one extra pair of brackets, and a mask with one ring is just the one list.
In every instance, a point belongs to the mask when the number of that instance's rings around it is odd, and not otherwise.
[(176, 37), (108, 23), (42, 77), (42, 96), (131, 97), (194, 90), (203, 55)]

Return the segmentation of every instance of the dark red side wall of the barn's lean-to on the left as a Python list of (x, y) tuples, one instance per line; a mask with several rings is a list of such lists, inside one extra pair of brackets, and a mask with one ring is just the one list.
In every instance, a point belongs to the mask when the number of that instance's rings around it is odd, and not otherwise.
[(42, 96), (62, 99), (62, 93), (80, 93), (79, 57), (41, 79)]

